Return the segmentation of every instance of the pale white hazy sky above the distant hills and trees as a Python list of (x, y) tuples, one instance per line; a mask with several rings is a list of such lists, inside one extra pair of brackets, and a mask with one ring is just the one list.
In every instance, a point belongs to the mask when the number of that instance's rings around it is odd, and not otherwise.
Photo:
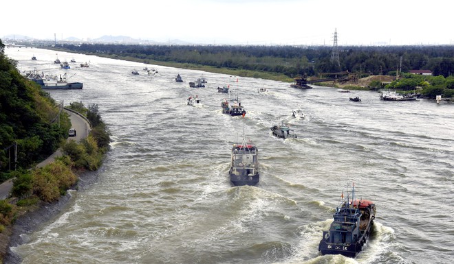
[(250, 45), (454, 44), (451, 1), (3, 1), (0, 38), (130, 36)]

